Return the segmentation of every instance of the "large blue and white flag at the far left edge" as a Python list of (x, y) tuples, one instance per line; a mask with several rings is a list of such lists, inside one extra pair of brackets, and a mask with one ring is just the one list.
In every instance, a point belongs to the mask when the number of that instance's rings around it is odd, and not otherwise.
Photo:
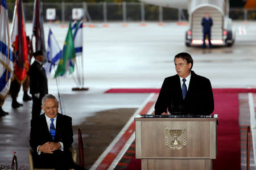
[(6, 0), (0, 6), (0, 98), (5, 99), (13, 79), (13, 57), (9, 47), (9, 19)]

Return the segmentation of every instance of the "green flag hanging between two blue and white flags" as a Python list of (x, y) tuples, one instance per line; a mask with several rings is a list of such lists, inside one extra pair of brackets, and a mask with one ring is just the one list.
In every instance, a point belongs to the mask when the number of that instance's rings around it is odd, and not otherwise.
[(63, 50), (61, 52), (61, 58), (54, 78), (60, 75), (63, 76), (67, 70), (69, 70), (69, 74), (73, 73), (74, 65), (72, 65), (71, 62), (73, 59), (75, 59), (75, 57), (76, 53), (74, 48), (71, 23), (69, 23), (67, 37), (64, 42)]

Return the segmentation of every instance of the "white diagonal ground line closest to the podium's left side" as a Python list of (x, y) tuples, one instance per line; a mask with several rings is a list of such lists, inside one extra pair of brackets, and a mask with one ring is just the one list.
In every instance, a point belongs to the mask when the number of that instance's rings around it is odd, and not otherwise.
[[(154, 106), (155, 106), (155, 104), (152, 105), (152, 107), (148, 110), (147, 114), (152, 114), (152, 112), (155, 109)], [(133, 135), (131, 135), (130, 139), (126, 142), (125, 146), (123, 146), (122, 150), (119, 152), (119, 154), (114, 159), (112, 164), (109, 166), (108, 170), (112, 170), (112, 169), (114, 169), (117, 166), (119, 160), (121, 160), (123, 155), (125, 155), (125, 152), (128, 150), (128, 148), (130, 147), (131, 143), (133, 143), (134, 139), (135, 139), (135, 131), (134, 131)]]

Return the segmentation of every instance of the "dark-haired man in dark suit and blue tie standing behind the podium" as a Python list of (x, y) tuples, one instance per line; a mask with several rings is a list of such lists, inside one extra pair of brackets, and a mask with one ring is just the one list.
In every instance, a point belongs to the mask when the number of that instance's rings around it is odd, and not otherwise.
[(155, 114), (210, 115), (214, 110), (209, 79), (192, 71), (193, 59), (188, 53), (174, 58), (177, 74), (164, 79)]

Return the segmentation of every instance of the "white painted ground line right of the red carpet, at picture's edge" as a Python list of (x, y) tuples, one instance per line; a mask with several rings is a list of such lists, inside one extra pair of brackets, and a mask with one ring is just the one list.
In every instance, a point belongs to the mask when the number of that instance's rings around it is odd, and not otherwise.
[(254, 103), (253, 103), (253, 94), (248, 94), (248, 102), (250, 108), (250, 121), (251, 121), (251, 138), (253, 141), (253, 155), (254, 155), (254, 163), (256, 163), (256, 151), (255, 151), (255, 111), (254, 111)]

